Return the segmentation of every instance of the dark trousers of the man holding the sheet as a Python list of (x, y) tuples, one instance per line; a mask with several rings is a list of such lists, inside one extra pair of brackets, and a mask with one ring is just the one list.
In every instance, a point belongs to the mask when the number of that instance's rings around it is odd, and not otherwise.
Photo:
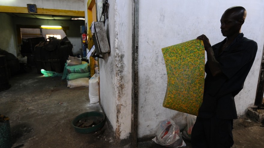
[(234, 144), (233, 120), (196, 118), (193, 125), (192, 148), (230, 148)]

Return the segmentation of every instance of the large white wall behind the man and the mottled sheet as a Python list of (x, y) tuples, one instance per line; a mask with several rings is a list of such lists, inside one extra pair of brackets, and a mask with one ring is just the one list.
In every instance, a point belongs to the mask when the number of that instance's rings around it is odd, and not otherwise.
[[(238, 116), (253, 105), (264, 44), (264, 3), (262, 0), (165, 0), (139, 1), (139, 110), (138, 138), (154, 136), (158, 124), (172, 118), (183, 128), (185, 115), (162, 107), (167, 74), (161, 48), (175, 45), (205, 34), (212, 45), (222, 41), (220, 18), (232, 6), (247, 10), (242, 26), (244, 36), (258, 43), (255, 62), (244, 89), (235, 97)], [(120, 12), (121, 13), (121, 12)]]

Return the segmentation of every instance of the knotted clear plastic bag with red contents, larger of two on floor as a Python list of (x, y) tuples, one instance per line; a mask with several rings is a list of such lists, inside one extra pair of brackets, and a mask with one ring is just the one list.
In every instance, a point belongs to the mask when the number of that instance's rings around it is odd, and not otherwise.
[(166, 119), (159, 125), (156, 137), (152, 139), (156, 144), (169, 148), (185, 147), (180, 128), (173, 120)]

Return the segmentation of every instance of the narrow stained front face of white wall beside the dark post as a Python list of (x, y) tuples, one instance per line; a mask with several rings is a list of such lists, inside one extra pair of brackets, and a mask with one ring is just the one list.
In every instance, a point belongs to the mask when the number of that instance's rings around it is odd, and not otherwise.
[[(110, 24), (115, 23), (115, 68), (116, 68), (116, 106), (120, 139), (128, 138), (131, 134), (131, 97), (132, 97), (132, 2), (131, 0), (116, 0), (115, 22), (109, 19)], [(120, 13), (122, 12), (122, 13)], [(111, 49), (111, 51), (112, 51)]]

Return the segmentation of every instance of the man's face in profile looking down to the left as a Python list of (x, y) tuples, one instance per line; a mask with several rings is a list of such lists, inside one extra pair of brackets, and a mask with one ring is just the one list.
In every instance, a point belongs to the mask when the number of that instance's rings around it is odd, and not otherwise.
[(232, 36), (240, 33), (241, 25), (233, 13), (225, 12), (221, 17), (221, 32), (223, 36)]

